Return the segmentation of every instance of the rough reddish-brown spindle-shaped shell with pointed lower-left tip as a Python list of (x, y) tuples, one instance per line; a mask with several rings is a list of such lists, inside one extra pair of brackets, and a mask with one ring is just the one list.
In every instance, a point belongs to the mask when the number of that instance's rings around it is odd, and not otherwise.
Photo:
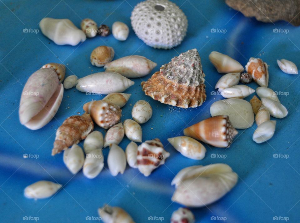
[(60, 153), (85, 139), (93, 129), (94, 123), (89, 114), (73, 115), (67, 118), (56, 131), (52, 155)]

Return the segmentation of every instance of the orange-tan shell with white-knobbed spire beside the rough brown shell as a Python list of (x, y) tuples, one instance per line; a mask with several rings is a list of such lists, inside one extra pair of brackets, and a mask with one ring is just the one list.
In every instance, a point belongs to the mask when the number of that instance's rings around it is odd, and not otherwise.
[(94, 122), (103, 129), (108, 129), (117, 124), (122, 116), (122, 110), (118, 105), (110, 104), (102, 100), (85, 103), (83, 110), (91, 114)]

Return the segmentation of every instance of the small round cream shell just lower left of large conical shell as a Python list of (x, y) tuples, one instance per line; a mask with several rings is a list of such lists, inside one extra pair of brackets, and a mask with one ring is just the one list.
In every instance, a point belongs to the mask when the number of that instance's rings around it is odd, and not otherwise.
[(139, 124), (143, 124), (151, 119), (152, 107), (147, 101), (139, 100), (134, 104), (131, 110), (131, 115), (134, 121)]

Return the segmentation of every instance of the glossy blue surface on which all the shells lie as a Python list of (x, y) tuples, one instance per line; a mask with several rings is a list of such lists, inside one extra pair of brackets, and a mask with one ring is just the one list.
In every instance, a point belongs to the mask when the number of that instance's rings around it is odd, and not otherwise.
[[(2, 2), (3, 1), (3, 2)], [(138, 39), (130, 25), (130, 15), (136, 0), (116, 1), (4, 1), (0, 3), (1, 19), (1, 78), (0, 78), (0, 222), (23, 222), (26, 216), (38, 222), (97, 221), (97, 209), (104, 203), (120, 206), (137, 223), (169, 222), (171, 214), (181, 205), (172, 202), (174, 187), (171, 180), (179, 170), (191, 165), (226, 163), (239, 176), (237, 185), (217, 202), (202, 208), (192, 208), (196, 222), (273, 222), (273, 218), (299, 222), (300, 166), (299, 153), (299, 75), (283, 73), (277, 59), (294, 61), (300, 67), (300, 30), (287, 22), (261, 23), (246, 18), (229, 8), (222, 0), (174, 0), (187, 15), (187, 36), (171, 50), (154, 49)], [(122, 21), (130, 27), (126, 41), (112, 35), (87, 39), (78, 46), (58, 46), (41, 32), (23, 33), (23, 29), (38, 29), (44, 17), (68, 18), (80, 26), (83, 18), (92, 18), (98, 24), (112, 26)], [(211, 29), (223, 32), (211, 32)], [(279, 32), (273, 32), (278, 29)], [(161, 104), (146, 96), (141, 79), (125, 93), (132, 94), (123, 107), (122, 120), (131, 118), (133, 104), (147, 100), (153, 107), (153, 116), (143, 128), (143, 141), (161, 139), (170, 157), (149, 177), (127, 166), (123, 175), (113, 177), (107, 166), (108, 149), (104, 149), (105, 168), (97, 178), (89, 180), (82, 171), (72, 175), (63, 164), (63, 155), (51, 156), (55, 132), (69, 116), (83, 114), (83, 104), (103, 96), (85, 95), (76, 89), (64, 91), (63, 102), (55, 118), (42, 129), (32, 131), (19, 122), (18, 107), (21, 92), (28, 77), (43, 64), (64, 63), (67, 76), (79, 78), (101, 72), (89, 61), (92, 50), (100, 45), (114, 48), (114, 59), (136, 54), (158, 63), (152, 73), (171, 58), (188, 49), (197, 48), (206, 74), (207, 99), (201, 107), (181, 109)], [(191, 160), (178, 153), (167, 138), (183, 135), (183, 129), (210, 117), (211, 104), (222, 99), (214, 86), (221, 74), (208, 60), (211, 51), (219, 51), (246, 65), (250, 57), (262, 58), (269, 65), (269, 87), (280, 93), (279, 99), (288, 110), (284, 119), (276, 120), (276, 132), (267, 143), (256, 144), (249, 129), (239, 129), (234, 143), (228, 149), (205, 145), (206, 157)], [(152, 73), (143, 77), (147, 80)], [(252, 88), (258, 85), (251, 83)], [(246, 98), (250, 100), (253, 95)], [(103, 129), (95, 127), (103, 134)], [(79, 145), (82, 146), (81, 142)], [(125, 149), (125, 137), (120, 146)], [(36, 158), (23, 158), (23, 154)], [(219, 158), (213, 158), (213, 154)], [(276, 158), (278, 154), (279, 158)], [(275, 156), (275, 158), (274, 158)], [(64, 185), (55, 196), (27, 199), (23, 190), (38, 180), (57, 181)], [(156, 220), (148, 220), (150, 216)], [(217, 219), (217, 220), (213, 220)]]

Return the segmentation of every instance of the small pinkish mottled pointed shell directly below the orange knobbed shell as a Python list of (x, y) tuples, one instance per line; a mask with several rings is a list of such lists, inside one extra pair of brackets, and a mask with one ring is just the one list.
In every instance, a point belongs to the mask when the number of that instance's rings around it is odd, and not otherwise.
[(108, 129), (104, 137), (104, 148), (112, 144), (118, 145), (124, 138), (123, 124), (120, 122)]

